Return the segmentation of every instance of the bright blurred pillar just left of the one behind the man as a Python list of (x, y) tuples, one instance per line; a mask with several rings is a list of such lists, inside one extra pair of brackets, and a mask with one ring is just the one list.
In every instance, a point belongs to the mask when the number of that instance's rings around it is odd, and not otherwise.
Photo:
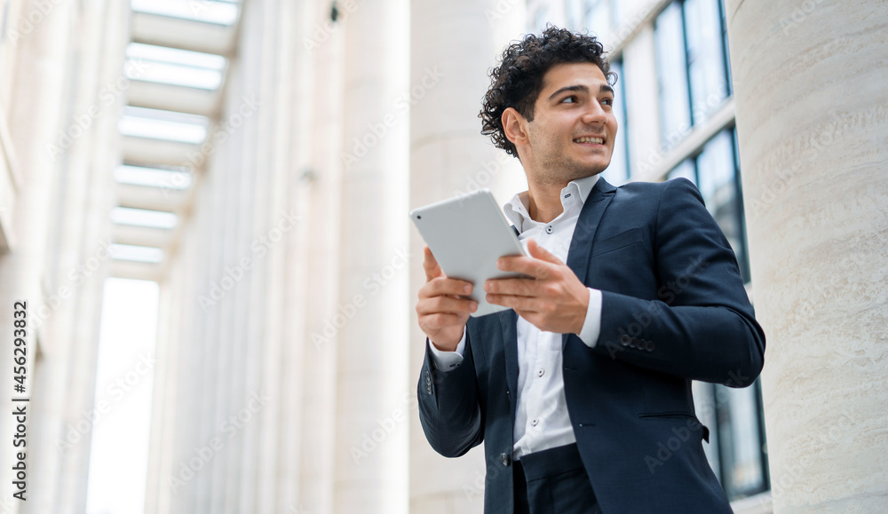
[[(408, 510), (406, 0), (342, 2), (341, 187), (334, 511)], [(369, 441), (369, 442), (368, 442)]]

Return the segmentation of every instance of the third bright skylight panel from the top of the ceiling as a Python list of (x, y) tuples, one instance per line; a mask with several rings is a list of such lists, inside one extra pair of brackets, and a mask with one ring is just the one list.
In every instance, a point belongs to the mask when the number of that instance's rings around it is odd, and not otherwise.
[(206, 116), (187, 115), (145, 107), (123, 107), (119, 128), (124, 136), (163, 139), (198, 145), (207, 138)]

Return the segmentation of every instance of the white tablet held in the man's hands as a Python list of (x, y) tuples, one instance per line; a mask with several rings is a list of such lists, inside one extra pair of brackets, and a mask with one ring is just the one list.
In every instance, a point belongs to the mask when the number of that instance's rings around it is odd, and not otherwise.
[(518, 234), (488, 189), (456, 196), (410, 211), (410, 219), (449, 278), (472, 282), (478, 309), (472, 316), (504, 311), (508, 307), (484, 300), (488, 279), (523, 277), (496, 268), (499, 257), (527, 255)]

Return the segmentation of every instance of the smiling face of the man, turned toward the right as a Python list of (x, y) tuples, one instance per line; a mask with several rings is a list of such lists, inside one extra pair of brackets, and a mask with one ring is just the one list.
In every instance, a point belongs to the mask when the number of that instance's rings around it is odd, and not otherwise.
[(598, 66), (551, 67), (543, 75), (534, 121), (527, 123), (527, 173), (563, 186), (605, 170), (617, 130), (613, 106), (614, 89)]

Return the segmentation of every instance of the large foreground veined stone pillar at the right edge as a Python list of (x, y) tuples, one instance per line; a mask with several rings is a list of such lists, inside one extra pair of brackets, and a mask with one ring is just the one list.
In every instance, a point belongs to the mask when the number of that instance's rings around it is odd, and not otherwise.
[(727, 13), (774, 512), (883, 512), (888, 4)]

